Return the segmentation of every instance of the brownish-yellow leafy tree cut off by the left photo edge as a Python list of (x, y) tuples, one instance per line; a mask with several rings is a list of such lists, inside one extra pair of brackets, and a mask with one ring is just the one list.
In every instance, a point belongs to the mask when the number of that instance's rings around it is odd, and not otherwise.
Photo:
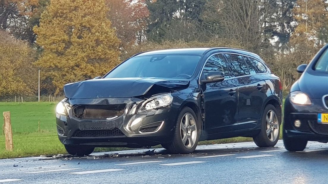
[(33, 95), (37, 90), (34, 50), (0, 30), (0, 97)]

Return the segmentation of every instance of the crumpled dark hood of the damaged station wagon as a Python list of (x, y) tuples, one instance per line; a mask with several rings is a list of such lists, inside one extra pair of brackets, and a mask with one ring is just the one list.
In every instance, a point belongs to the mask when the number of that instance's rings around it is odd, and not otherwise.
[(158, 78), (95, 79), (66, 84), (64, 93), (70, 99), (125, 98), (145, 95), (153, 87), (159, 86), (162, 89), (174, 91), (188, 85), (189, 80)]

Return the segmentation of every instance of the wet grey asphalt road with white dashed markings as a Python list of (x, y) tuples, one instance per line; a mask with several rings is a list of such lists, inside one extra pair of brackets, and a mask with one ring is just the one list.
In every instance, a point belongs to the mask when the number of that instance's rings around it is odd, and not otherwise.
[(303, 152), (286, 151), (281, 140), (273, 148), (258, 148), (253, 142), (198, 146), (188, 155), (168, 155), (164, 149), (147, 155), (148, 150), (2, 159), (0, 182), (328, 183), (324, 143), (309, 142)]

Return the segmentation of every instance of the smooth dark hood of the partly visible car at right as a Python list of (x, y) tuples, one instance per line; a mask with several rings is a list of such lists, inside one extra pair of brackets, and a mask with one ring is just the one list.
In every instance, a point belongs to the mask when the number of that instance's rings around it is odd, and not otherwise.
[(328, 94), (328, 76), (317, 76), (304, 73), (297, 81), (300, 91), (310, 98), (322, 98)]

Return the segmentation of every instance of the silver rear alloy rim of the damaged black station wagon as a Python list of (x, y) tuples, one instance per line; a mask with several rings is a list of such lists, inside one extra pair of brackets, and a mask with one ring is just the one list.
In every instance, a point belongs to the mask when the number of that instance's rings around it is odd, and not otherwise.
[(266, 115), (266, 134), (271, 142), (274, 142), (279, 136), (279, 121), (274, 110), (269, 110)]

